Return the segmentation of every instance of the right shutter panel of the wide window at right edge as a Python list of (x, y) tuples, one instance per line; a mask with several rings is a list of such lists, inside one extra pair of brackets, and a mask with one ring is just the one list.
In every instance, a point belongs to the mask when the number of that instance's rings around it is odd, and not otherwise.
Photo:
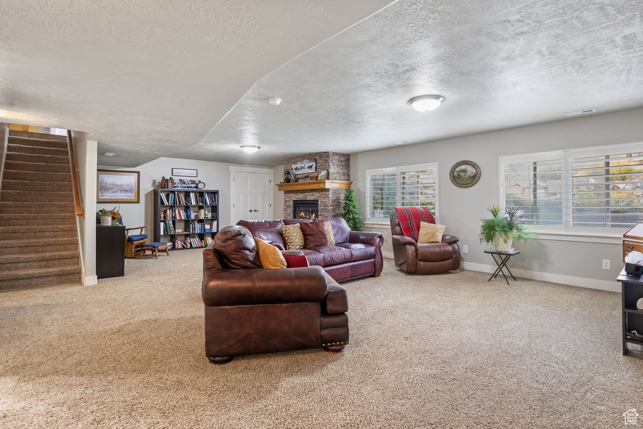
[(569, 162), (571, 226), (630, 228), (642, 221), (643, 152), (575, 152)]

